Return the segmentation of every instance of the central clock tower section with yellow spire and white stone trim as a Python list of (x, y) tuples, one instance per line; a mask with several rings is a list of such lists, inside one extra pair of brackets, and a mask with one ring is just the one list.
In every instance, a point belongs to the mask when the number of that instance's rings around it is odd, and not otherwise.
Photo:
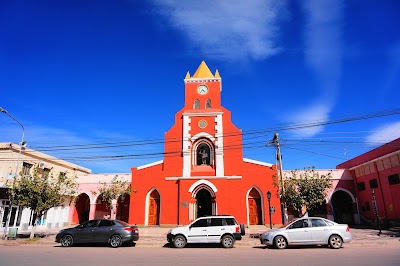
[(223, 176), (221, 77), (204, 61), (193, 76), (187, 72), (182, 114), (182, 176)]

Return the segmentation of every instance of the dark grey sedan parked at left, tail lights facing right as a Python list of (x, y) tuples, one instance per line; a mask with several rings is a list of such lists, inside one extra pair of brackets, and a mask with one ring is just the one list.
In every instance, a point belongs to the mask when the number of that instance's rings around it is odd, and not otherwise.
[(63, 247), (74, 244), (104, 243), (117, 248), (139, 240), (139, 229), (120, 220), (97, 219), (58, 232), (56, 242)]

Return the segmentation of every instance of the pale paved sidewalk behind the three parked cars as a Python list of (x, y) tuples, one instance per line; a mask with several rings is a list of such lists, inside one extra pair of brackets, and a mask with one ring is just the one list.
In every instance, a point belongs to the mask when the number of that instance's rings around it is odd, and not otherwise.
[[(250, 226), (246, 228), (246, 235), (242, 240), (235, 242), (235, 247), (264, 247), (258, 239), (259, 234), (268, 230), (265, 226)], [(37, 231), (36, 236), (40, 239), (32, 241), (29, 239), (30, 232), (19, 232), (16, 240), (2, 240), (0, 245), (59, 245), (55, 242), (55, 236), (60, 228), (47, 229), (45, 231)], [(137, 247), (163, 247), (168, 246), (167, 234), (170, 228), (163, 227), (139, 227), (139, 240), (136, 242)], [(378, 236), (378, 230), (374, 229), (357, 229), (351, 228), (353, 240), (350, 245), (376, 245), (376, 244), (398, 244), (400, 245), (400, 232), (390, 230), (382, 230)], [(346, 244), (345, 244), (346, 245)]]

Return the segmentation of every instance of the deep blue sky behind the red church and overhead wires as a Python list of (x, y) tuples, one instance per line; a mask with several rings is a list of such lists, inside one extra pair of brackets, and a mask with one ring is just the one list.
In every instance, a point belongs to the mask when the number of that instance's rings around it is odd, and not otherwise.
[(0, 106), (28, 147), (93, 173), (163, 158), (203, 59), (246, 158), (275, 163), (278, 132), (284, 169), (329, 169), (400, 137), (396, 0), (4, 0), (0, 25)]

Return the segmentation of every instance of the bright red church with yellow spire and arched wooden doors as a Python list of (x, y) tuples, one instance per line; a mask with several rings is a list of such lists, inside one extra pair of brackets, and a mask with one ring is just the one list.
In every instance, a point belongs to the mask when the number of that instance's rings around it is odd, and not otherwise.
[(184, 79), (184, 107), (164, 136), (164, 159), (132, 168), (129, 223), (183, 225), (204, 215), (231, 214), (239, 223), (281, 224), (275, 165), (243, 158), (242, 132), (221, 105), (222, 83), (201, 62)]

